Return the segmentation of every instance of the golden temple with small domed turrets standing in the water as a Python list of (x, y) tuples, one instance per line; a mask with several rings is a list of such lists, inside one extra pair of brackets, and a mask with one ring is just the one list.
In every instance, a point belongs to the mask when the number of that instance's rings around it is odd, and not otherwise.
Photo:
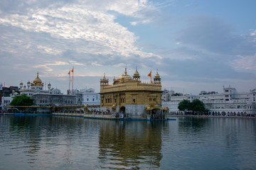
[(136, 70), (133, 77), (124, 74), (113, 79), (113, 84), (105, 77), (100, 79), (100, 106), (103, 111), (126, 113), (132, 117), (146, 118), (161, 113), (161, 78), (156, 72), (154, 81), (142, 83)]

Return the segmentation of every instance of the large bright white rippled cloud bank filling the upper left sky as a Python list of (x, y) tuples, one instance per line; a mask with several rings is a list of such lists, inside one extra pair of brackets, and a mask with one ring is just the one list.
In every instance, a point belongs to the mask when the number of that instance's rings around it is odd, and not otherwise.
[(2, 51), (27, 53), (30, 58), (44, 56), (46, 62), (55, 55), (56, 59), (65, 57), (65, 62), (74, 60), (93, 66), (119, 64), (134, 57), (161, 58), (139, 50), (135, 45), (138, 37), (108, 13), (113, 10), (147, 20), (145, 12), (155, 10), (148, 1), (55, 1), (48, 6), (40, 1), (26, 1), (14, 6), (19, 11), (6, 9), (9, 13), (0, 18), (1, 28), (7, 33), (0, 36), (9, 36), (3, 38)]

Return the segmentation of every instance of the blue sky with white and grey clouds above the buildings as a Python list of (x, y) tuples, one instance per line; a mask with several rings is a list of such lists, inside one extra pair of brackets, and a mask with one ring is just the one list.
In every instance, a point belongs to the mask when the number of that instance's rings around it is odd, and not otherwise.
[[(0, 83), (100, 92), (137, 69), (183, 94), (256, 88), (255, 0), (2, 0)], [(72, 76), (72, 74), (71, 74)]]

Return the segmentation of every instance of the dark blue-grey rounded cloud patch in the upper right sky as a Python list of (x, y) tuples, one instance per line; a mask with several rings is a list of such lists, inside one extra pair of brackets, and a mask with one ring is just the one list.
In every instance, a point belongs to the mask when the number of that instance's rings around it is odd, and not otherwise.
[(218, 18), (193, 16), (188, 18), (186, 28), (179, 32), (176, 41), (202, 47), (209, 52), (230, 54), (244, 41), (234, 32), (235, 26)]

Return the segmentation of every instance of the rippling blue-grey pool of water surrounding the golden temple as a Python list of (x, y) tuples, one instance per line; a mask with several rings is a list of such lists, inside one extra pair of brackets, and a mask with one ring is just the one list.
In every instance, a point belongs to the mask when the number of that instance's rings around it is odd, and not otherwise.
[[(0, 115), (0, 169), (254, 169), (256, 120)], [(14, 161), (15, 160), (15, 161)]]

